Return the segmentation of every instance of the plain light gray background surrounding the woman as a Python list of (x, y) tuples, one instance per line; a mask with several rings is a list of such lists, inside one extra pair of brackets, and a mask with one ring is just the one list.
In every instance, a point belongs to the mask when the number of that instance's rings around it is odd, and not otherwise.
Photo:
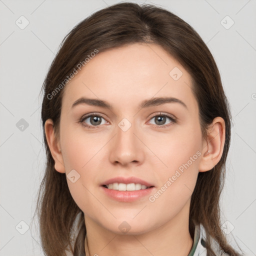
[[(43, 255), (31, 221), (45, 163), (39, 91), (64, 35), (115, 0), (0, 0), (0, 255)], [(136, 1), (142, 3), (142, 0)], [(256, 1), (155, 0), (187, 21), (212, 52), (232, 116), (222, 222), (247, 255), (256, 254)], [(29, 24), (20, 29), (23, 15)], [(226, 29), (228, 15), (234, 24)], [(20, 21), (19, 21), (20, 22)], [(230, 19), (222, 22), (230, 25)], [(24, 24), (24, 23), (23, 23)], [(28, 127), (16, 123), (24, 118)], [(26, 230), (26, 224), (29, 229)]]

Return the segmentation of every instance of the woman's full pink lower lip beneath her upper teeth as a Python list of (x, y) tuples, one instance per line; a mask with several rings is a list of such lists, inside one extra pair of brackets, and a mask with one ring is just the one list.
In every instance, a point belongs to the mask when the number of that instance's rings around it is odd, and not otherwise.
[(149, 187), (146, 189), (134, 190), (134, 191), (119, 191), (114, 189), (108, 189), (104, 186), (101, 186), (104, 193), (109, 197), (120, 201), (120, 202), (132, 202), (137, 199), (140, 199), (143, 196), (146, 196), (152, 192), (154, 187)]

